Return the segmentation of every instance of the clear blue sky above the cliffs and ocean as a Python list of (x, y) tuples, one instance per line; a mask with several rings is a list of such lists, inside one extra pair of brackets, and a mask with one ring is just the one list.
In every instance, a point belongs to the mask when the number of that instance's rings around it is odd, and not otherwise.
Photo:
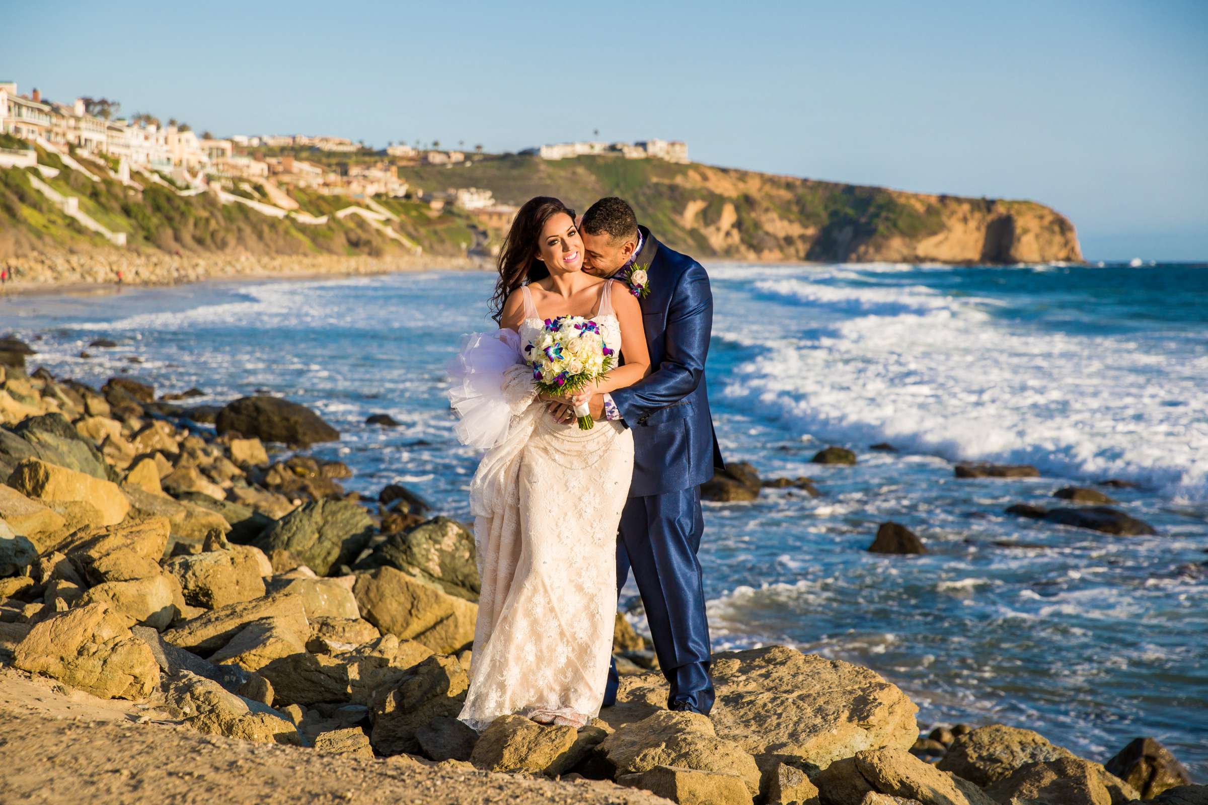
[(0, 78), (196, 129), (693, 159), (1028, 198), (1208, 259), (1208, 2), (6, 4)]

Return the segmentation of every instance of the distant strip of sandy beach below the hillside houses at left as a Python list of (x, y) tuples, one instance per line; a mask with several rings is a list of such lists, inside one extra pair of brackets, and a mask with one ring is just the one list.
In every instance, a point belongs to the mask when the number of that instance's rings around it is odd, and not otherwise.
[(365, 255), (249, 255), (91, 251), (86, 253), (40, 252), (0, 259), (8, 281), (0, 296), (87, 291), (117, 286), (159, 286), (185, 282), (308, 279), (323, 276), (373, 275), (431, 269), (481, 269), (477, 257), (410, 255), (370, 257)]

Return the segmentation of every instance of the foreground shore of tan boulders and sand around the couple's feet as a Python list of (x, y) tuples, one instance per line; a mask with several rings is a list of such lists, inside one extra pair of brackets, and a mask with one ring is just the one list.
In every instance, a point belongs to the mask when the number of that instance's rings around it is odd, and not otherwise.
[[(347, 492), (347, 466), (307, 455), (341, 434), (301, 406), (191, 407), (29, 371), (30, 354), (0, 344), (0, 760), (22, 769), (5, 799), (285, 801), (283, 770), (301, 769), (333, 801), (1208, 803), (1152, 739), (1100, 764), (1001, 724), (924, 735), (875, 671), (783, 646), (718, 653), (712, 717), (672, 713), (621, 617), (617, 706), (581, 730), (509, 716), (477, 735), (455, 719), (478, 594), (466, 526), (405, 486)], [(765, 485), (817, 494), (744, 465), (707, 494)], [(1080, 495), (1062, 497), (1094, 502)], [(923, 547), (883, 530), (870, 548)], [(85, 737), (57, 700), (104, 723)], [(64, 788), (77, 766), (93, 782)]]

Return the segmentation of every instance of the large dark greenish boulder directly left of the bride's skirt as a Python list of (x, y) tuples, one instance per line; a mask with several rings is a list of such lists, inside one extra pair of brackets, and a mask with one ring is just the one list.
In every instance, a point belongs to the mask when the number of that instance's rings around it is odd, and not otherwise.
[(391, 533), (374, 549), (372, 559), (469, 601), (477, 601), (482, 590), (474, 535), (447, 517), (422, 523), (405, 533)]

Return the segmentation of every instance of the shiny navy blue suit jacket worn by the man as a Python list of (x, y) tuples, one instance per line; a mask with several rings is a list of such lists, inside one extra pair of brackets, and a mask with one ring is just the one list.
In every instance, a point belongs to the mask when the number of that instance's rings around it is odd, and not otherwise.
[(704, 383), (713, 331), (709, 275), (640, 228), (644, 243), (634, 263), (649, 267), (650, 293), (640, 303), (651, 373), (612, 392), (633, 430), (629, 497), (691, 489), (724, 467)]

